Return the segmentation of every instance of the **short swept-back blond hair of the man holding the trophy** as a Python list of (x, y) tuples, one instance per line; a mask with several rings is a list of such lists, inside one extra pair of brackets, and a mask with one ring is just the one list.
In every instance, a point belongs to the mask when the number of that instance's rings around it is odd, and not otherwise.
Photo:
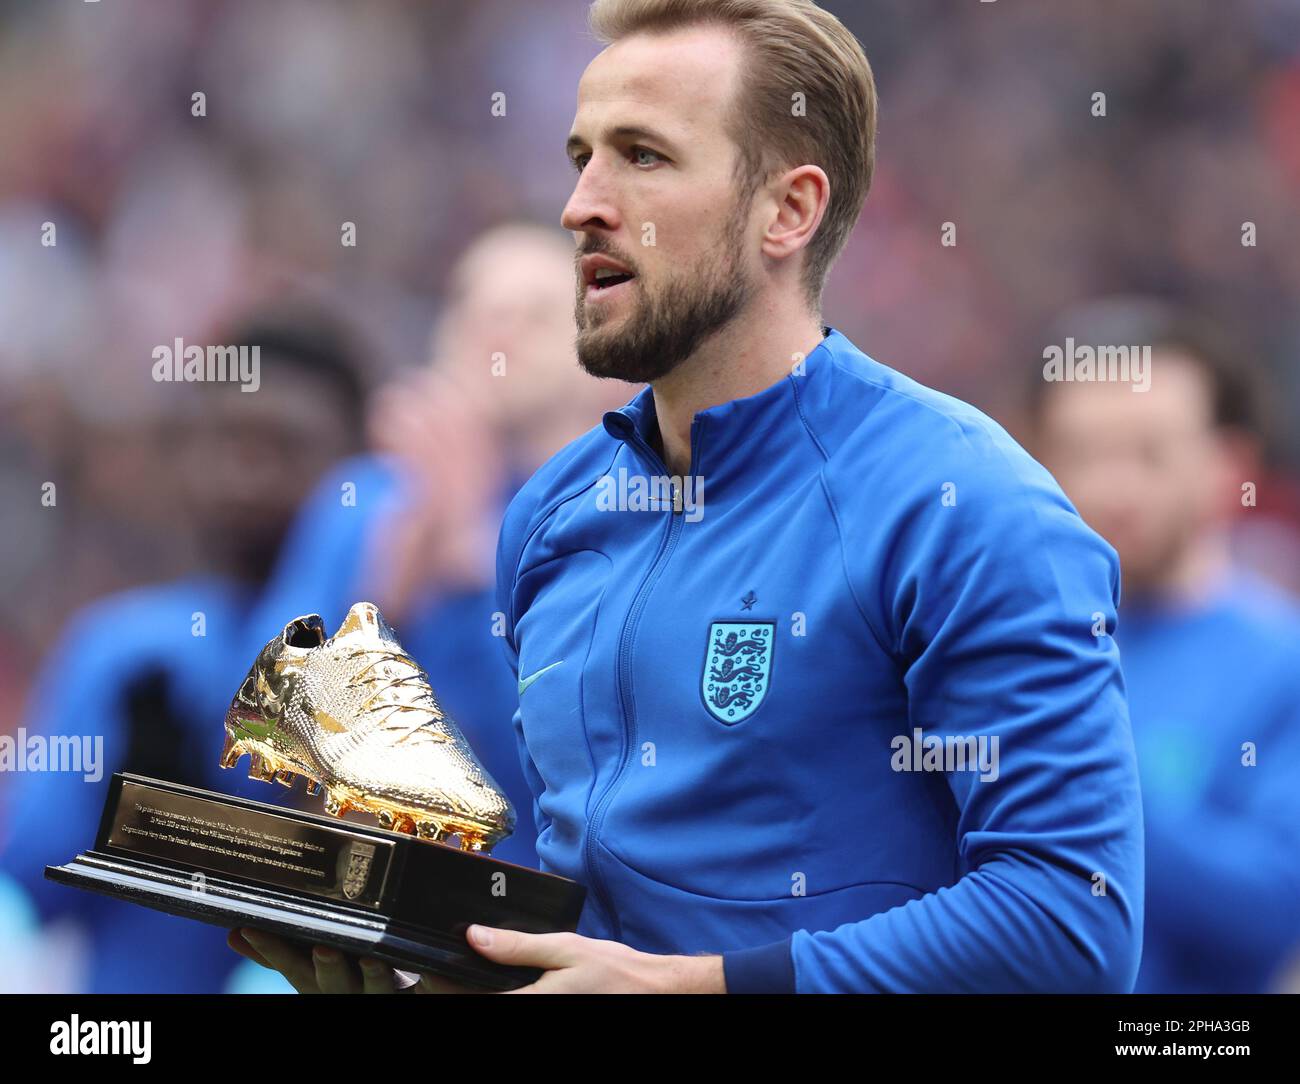
[[(803, 263), (803, 289), (819, 311), (875, 169), (876, 86), (858, 39), (811, 0), (595, 0), (588, 21), (604, 44), (689, 26), (738, 34), (749, 56), (728, 130), (740, 148), (742, 199), (748, 204), (772, 173), (805, 164), (820, 166), (831, 182)], [(803, 95), (803, 116), (793, 108), (796, 94)]]

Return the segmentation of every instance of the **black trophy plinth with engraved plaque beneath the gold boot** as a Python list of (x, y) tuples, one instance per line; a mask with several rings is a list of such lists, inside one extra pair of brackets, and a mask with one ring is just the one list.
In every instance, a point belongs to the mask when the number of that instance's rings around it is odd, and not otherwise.
[(467, 928), (572, 931), (585, 897), (566, 877), (488, 855), (121, 772), (95, 847), (46, 876), (495, 990), (540, 972), (478, 955)]

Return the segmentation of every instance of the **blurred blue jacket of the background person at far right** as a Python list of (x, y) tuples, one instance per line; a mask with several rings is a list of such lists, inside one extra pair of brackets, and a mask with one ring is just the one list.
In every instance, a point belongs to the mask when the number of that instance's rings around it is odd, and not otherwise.
[(1234, 568), (1122, 611), (1147, 825), (1134, 989), (1265, 993), (1300, 955), (1300, 608)]

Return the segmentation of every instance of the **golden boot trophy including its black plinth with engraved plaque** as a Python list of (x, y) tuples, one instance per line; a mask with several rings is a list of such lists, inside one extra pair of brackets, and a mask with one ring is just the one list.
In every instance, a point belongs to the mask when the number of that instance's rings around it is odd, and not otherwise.
[[(116, 772), (95, 846), (46, 876), (488, 989), (538, 972), (474, 953), (472, 923), (577, 927), (582, 885), (489, 857), (515, 811), (372, 603), (328, 638), (316, 615), (289, 621), (224, 724), (224, 767), (247, 754), (256, 779), (303, 776), (332, 815)], [(341, 819), (348, 810), (380, 823)]]

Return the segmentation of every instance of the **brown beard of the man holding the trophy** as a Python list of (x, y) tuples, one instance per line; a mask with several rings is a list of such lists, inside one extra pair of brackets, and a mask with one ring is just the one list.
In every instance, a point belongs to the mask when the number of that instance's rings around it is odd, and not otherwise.
[[(633, 311), (621, 324), (592, 325), (586, 316), (586, 287), (578, 282), (575, 321), (577, 360), (594, 377), (649, 383), (676, 369), (712, 335), (731, 324), (754, 296), (757, 286), (745, 273), (744, 225), (749, 205), (737, 200), (722, 242), (693, 270), (671, 278), (650, 292), (637, 276)], [(581, 255), (599, 252), (588, 248)]]

